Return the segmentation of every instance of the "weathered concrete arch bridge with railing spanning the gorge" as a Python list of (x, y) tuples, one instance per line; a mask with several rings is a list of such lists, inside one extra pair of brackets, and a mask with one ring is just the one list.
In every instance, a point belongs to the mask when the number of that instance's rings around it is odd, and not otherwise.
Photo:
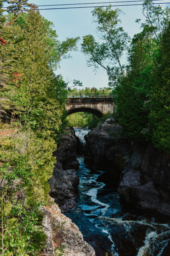
[(113, 93), (69, 93), (66, 105), (67, 114), (88, 112), (101, 117), (108, 111), (113, 112), (114, 97)]

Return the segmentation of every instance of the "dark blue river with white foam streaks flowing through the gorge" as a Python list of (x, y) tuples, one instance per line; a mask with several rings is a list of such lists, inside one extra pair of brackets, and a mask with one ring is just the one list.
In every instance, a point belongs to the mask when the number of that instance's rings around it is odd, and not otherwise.
[[(85, 143), (87, 129), (74, 128)], [(121, 202), (111, 174), (80, 163), (78, 208), (68, 216), (80, 229), (96, 256), (169, 256), (170, 227), (160, 216)]]

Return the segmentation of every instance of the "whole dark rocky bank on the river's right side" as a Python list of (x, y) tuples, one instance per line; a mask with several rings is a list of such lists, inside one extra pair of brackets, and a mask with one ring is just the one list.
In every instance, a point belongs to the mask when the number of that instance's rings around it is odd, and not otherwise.
[(94, 168), (113, 174), (120, 197), (141, 209), (170, 215), (170, 154), (152, 143), (133, 143), (116, 120), (106, 120), (85, 136), (85, 156)]

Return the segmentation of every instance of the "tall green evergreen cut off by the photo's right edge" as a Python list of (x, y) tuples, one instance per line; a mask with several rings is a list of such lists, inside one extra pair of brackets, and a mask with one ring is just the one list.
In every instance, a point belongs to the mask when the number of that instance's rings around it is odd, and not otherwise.
[(164, 30), (159, 54), (153, 63), (150, 120), (156, 147), (170, 153), (170, 23)]

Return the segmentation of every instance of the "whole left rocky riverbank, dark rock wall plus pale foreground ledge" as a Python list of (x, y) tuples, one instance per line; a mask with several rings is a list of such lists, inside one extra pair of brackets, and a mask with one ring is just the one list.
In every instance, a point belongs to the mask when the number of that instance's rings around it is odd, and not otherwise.
[(43, 231), (47, 244), (42, 255), (95, 256), (91, 245), (84, 241), (79, 228), (63, 213), (77, 207), (75, 202), (79, 186), (76, 170), (76, 138), (72, 128), (66, 128), (61, 135), (57, 150), (53, 176), (49, 179), (50, 200), (55, 204), (40, 207), (43, 212)]

